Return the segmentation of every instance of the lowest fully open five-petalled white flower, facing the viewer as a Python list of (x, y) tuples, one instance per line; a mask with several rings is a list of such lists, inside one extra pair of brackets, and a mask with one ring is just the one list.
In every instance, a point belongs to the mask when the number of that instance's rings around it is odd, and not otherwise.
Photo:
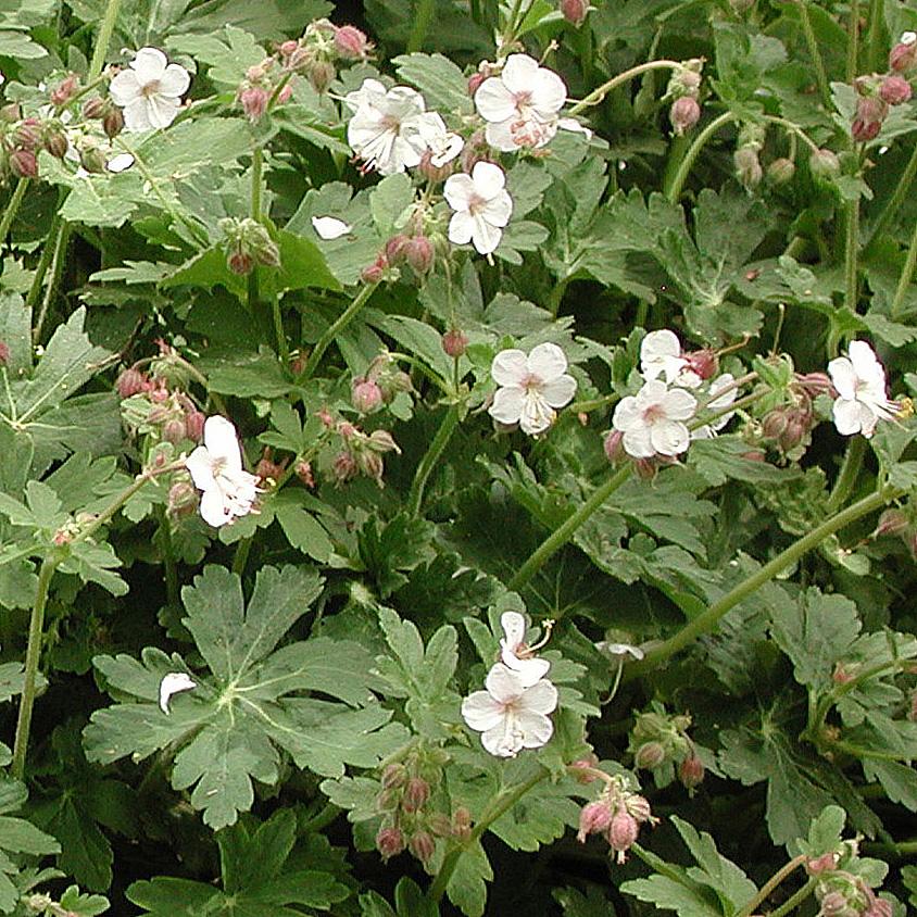
[(497, 663), (485, 687), (462, 701), (462, 716), (470, 729), (483, 733), (481, 744), (490, 754), (515, 757), (548, 742), (554, 732), (548, 714), (557, 707), (557, 689), (550, 681), (526, 687), (517, 673)]

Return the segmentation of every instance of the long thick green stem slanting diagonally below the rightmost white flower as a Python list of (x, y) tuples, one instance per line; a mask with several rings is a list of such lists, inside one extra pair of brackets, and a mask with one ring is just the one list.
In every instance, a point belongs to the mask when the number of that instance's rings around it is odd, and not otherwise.
[(870, 493), (868, 497), (864, 497), (862, 500), (842, 510), (837, 515), (826, 519), (820, 526), (817, 526), (811, 532), (794, 541), (772, 561), (729, 590), (718, 602), (715, 602), (705, 612), (702, 612), (698, 617), (690, 620), (678, 632), (669, 637), (668, 640), (650, 650), (641, 662), (629, 665), (625, 673), (625, 681), (630, 681), (645, 674), (648, 670), (655, 668), (693, 643), (702, 635), (709, 633), (716, 628), (719, 619), (727, 612), (731, 611), (740, 602), (743, 602), (749, 595), (761, 589), (762, 586), (769, 582), (774, 577), (787, 569), (787, 567), (792, 566), (803, 554), (813, 548), (817, 548), (826, 538), (836, 531), (884, 506), (899, 491), (892, 489)]

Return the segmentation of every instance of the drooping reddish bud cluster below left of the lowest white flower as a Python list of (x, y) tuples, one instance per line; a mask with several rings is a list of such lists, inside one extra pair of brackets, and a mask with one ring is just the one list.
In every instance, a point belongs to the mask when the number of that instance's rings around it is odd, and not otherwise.
[(437, 789), (443, 764), (445, 755), (439, 749), (414, 748), (386, 766), (376, 795), (382, 816), (376, 849), (382, 859), (407, 850), (429, 871), (439, 842), (467, 840), (472, 831), (468, 809), (460, 806), (450, 816), (440, 808), (444, 799)]

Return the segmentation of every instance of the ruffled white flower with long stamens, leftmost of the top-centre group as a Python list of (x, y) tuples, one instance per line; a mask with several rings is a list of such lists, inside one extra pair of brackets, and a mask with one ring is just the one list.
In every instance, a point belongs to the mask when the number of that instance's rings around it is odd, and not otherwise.
[(347, 126), (347, 141), (367, 169), (380, 175), (404, 172), (420, 162), (427, 149), (422, 130), (426, 103), (416, 89), (377, 79), (364, 79), (344, 100), (354, 115)]

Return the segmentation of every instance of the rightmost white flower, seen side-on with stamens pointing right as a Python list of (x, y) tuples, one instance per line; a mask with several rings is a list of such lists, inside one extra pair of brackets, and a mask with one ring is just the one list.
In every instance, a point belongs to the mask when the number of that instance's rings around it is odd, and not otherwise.
[(838, 390), (834, 426), (843, 436), (863, 434), (867, 439), (879, 420), (892, 420), (899, 405), (885, 393), (885, 370), (866, 341), (851, 341), (847, 356), (828, 364), (828, 374)]

